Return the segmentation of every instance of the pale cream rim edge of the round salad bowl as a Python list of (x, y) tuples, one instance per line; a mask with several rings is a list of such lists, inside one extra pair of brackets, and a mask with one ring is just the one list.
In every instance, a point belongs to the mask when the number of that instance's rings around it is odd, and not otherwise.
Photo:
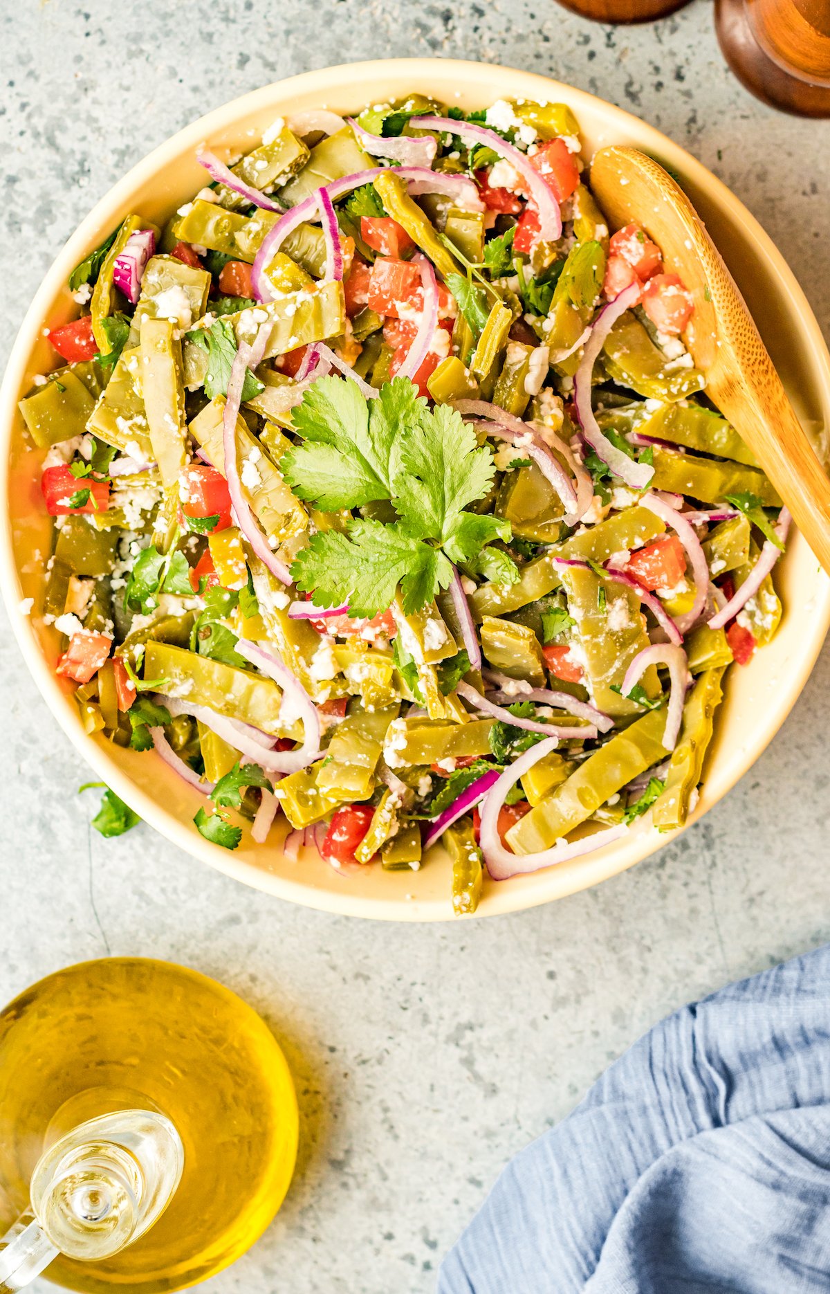
[[(292, 94), (317, 94), (319, 96), (319, 106), (326, 106), (327, 98), (332, 94), (353, 93), (361, 84), (371, 84), (372, 79), (397, 80), (401, 91), (406, 92), (411, 91), (419, 83), (428, 84), (447, 76), (454, 76), (465, 92), (485, 91), (484, 97), (489, 97), (489, 101), (494, 101), (500, 93), (509, 97), (521, 94), (527, 98), (533, 98), (535, 94), (548, 101), (556, 96), (568, 102), (577, 115), (579, 115), (580, 105), (586, 106), (591, 113), (596, 113), (596, 105), (600, 105), (604, 113), (610, 114), (614, 122), (621, 123), (621, 127), (631, 123), (630, 129), (639, 136), (645, 135), (650, 141), (650, 148), (658, 157), (670, 163), (677, 163), (684, 176), (692, 184), (711, 194), (719, 208), (725, 208), (733, 217), (737, 217), (737, 223), (742, 225), (745, 241), (749, 245), (754, 245), (772, 263), (790, 300), (798, 308), (809, 351), (816, 364), (816, 386), (821, 389), (824, 408), (830, 409), (830, 353), (804, 291), (769, 234), (767, 234), (755, 216), (718, 176), (655, 127), (596, 94), (524, 69), (485, 63), (476, 60), (449, 58), (368, 60), (300, 72), (229, 100), (184, 126), (175, 135), (156, 145), (96, 202), (54, 258), (23, 316), (9, 355), (3, 386), (0, 387), (0, 497), (3, 499), (0, 503), (3, 509), (3, 524), (0, 529), (0, 589), (3, 590), (12, 629), (26, 664), (34, 675), (41, 696), (62, 730), (84, 760), (92, 765), (96, 773), (116, 795), (133, 807), (145, 822), (191, 857), (200, 862), (207, 862), (211, 867), (234, 880), (274, 894), (278, 898), (301, 903), (319, 911), (380, 920), (434, 921), (456, 920), (456, 917), (454, 916), (451, 903), (446, 898), (441, 902), (428, 898), (402, 905), (399, 897), (390, 895), (388, 899), (378, 899), (375, 897), (367, 898), (366, 895), (361, 895), (359, 885), (349, 886), (344, 884), (343, 890), (317, 889), (310, 881), (304, 883), (299, 879), (284, 879), (266, 868), (256, 867), (235, 857), (234, 853), (206, 841), (193, 828), (186, 827), (178, 818), (163, 807), (158, 798), (145, 792), (127, 773), (118, 767), (102, 741), (90, 739), (85, 734), (76, 708), (71, 704), (71, 697), (61, 690), (53, 669), (47, 663), (28, 617), (18, 613), (22, 589), (13, 556), (12, 520), (6, 507), (9, 494), (9, 450), (13, 424), (17, 417), (17, 401), (23, 384), (28, 357), (43, 327), (47, 312), (53, 305), (59, 289), (65, 286), (74, 265), (87, 254), (93, 239), (98, 237), (100, 229), (107, 221), (111, 224), (116, 219), (115, 212), (132, 198), (140, 185), (153, 182), (160, 167), (186, 151), (195, 151), (197, 145), (202, 141), (215, 133), (233, 128), (238, 120), (246, 116), (265, 113), (269, 109), (279, 111), (274, 105)], [(795, 542), (803, 542), (802, 537), (796, 536)], [(742, 748), (723, 752), (721, 762), (724, 766), (720, 769), (718, 793), (707, 796), (705, 792), (701, 802), (689, 814), (688, 822), (680, 831), (659, 835), (650, 828), (645, 831), (643, 824), (637, 824), (627, 836), (593, 854), (586, 855), (579, 861), (577, 868), (568, 871), (566, 876), (561, 870), (552, 867), (542, 872), (530, 873), (530, 876), (540, 879), (533, 888), (526, 888), (524, 884), (513, 885), (511, 881), (499, 883), (495, 889), (489, 889), (485, 902), (474, 916), (495, 916), (520, 911), (551, 902), (555, 898), (564, 898), (578, 893), (582, 889), (599, 884), (601, 880), (618, 875), (648, 858), (663, 845), (676, 840), (683, 831), (699, 820), (708, 809), (714, 807), (734, 787), (767, 748), (793, 709), (807, 682), (829, 628), (830, 581), (822, 586), (813, 604), (812, 624), (805, 629), (804, 652), (798, 657), (798, 669), (783, 679), (774, 713), (767, 721), (759, 740), (752, 744), (751, 749)], [(526, 881), (527, 879), (517, 877), (516, 880)]]

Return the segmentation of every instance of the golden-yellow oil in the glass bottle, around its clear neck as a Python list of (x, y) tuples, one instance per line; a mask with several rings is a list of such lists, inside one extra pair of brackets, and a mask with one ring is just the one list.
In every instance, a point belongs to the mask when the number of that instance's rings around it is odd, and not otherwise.
[(45, 1146), (129, 1106), (176, 1124), (182, 1178), (122, 1253), (56, 1258), (45, 1275), (69, 1289), (151, 1294), (204, 1281), (250, 1249), (288, 1189), (297, 1102), (264, 1021), (195, 970), (109, 958), (59, 970), (0, 1012), (0, 1234), (27, 1207)]

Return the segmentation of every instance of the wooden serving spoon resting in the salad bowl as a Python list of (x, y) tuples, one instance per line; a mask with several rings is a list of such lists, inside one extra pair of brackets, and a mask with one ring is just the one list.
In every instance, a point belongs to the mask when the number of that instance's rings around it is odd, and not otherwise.
[(740, 432), (830, 575), (830, 479), (746, 303), (685, 193), (637, 149), (600, 149), (591, 188), (614, 229), (637, 224), (694, 300), (685, 344), (706, 393)]

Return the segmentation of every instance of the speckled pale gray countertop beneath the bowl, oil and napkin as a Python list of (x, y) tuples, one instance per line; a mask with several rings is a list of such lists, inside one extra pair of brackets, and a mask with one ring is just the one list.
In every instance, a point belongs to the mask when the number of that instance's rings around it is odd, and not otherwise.
[[(830, 124), (729, 75), (711, 4), (595, 26), (552, 0), (89, 0), (0, 6), (0, 358), (110, 185), (208, 107), (308, 67), (481, 58), (601, 94), (699, 157), (830, 324)], [(0, 612), (1, 615), (1, 612)], [(772, 747), (686, 836), (547, 908), (366, 925), (290, 907), (146, 827), (88, 827), (87, 770), (0, 629), (0, 1002), (71, 961), (168, 958), (271, 1024), (303, 1149), (265, 1238), (212, 1294), (424, 1294), (507, 1158), (680, 1003), (830, 936), (830, 651)]]

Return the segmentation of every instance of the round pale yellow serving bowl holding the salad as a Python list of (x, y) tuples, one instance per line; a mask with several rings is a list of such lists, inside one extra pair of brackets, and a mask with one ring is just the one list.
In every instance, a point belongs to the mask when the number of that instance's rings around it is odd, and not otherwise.
[[(71, 686), (54, 674), (58, 634), (39, 615), (50, 519), (39, 485), (43, 452), (27, 443), (17, 410), (32, 377), (56, 365), (43, 336), (44, 326), (54, 327), (78, 313), (66, 286), (72, 267), (127, 212), (134, 210), (162, 224), (189, 201), (204, 182), (204, 171), (195, 159), (198, 145), (207, 144), (225, 157), (252, 148), (275, 116), (310, 107), (356, 113), (367, 102), (414, 91), (467, 110), (487, 107), (496, 98), (562, 101), (577, 114), (587, 159), (601, 145), (630, 144), (668, 166), (680, 176), (741, 287), (796, 413), (814, 432), (830, 423), (830, 356), (795, 276), (746, 207), (679, 145), (612, 104), (531, 72), (440, 58), (349, 63), (268, 85), (180, 131), (133, 167), (63, 247), (23, 320), (0, 392), (0, 577), (21, 648), (58, 722), (98, 776), (168, 840), (228, 876), (296, 903), (349, 916), (437, 921), (452, 917), (446, 858), (431, 859), (419, 872), (384, 872), (372, 866), (344, 876), (313, 851), (304, 853), (299, 863), (287, 861), (278, 828), (266, 845), (253, 844), (246, 832), (239, 848), (230, 853), (197, 832), (193, 815), (202, 796), (159, 758), (85, 735)], [(781, 629), (749, 666), (728, 673), (690, 823), (734, 785), (773, 738), (802, 691), (830, 626), (830, 580), (800, 534), (793, 536), (776, 568), (776, 584), (783, 602)], [(25, 598), (35, 599), (28, 616), (19, 609)], [(643, 820), (619, 841), (586, 858), (508, 881), (486, 881), (478, 915), (512, 912), (573, 894), (631, 867), (671, 839)]]

